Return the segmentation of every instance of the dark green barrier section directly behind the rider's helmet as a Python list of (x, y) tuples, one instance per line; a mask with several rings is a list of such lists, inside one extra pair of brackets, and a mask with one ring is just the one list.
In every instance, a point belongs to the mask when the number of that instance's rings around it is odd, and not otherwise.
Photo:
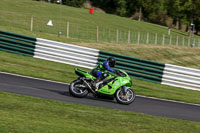
[(116, 68), (127, 71), (129, 75), (134, 76), (137, 79), (155, 83), (161, 83), (162, 81), (163, 69), (165, 67), (165, 64), (163, 63), (108, 53), (105, 51), (100, 51), (99, 56), (99, 61), (103, 61), (109, 56), (115, 57), (117, 59)]

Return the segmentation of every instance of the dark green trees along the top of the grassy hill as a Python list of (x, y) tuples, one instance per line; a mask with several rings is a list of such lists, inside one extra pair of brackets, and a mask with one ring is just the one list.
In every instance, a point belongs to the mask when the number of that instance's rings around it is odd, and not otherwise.
[[(45, 1), (56, 3), (60, 0)], [(200, 31), (200, 0), (62, 0), (62, 4), (83, 7), (86, 1), (106, 13), (194, 31), (195, 34)]]

